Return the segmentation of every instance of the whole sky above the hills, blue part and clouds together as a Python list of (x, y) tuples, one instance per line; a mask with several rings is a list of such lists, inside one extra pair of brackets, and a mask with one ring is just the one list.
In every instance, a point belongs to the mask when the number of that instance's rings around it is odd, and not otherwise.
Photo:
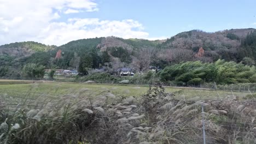
[(200, 29), (256, 28), (256, 1), (0, 0), (0, 45), (115, 36), (166, 39)]

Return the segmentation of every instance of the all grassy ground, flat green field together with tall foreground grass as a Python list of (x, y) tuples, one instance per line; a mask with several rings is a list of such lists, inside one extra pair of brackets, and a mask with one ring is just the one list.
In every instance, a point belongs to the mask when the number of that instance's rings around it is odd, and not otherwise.
[(0, 85), (0, 143), (202, 143), (202, 106), (207, 143), (256, 140), (255, 99), (243, 99), (246, 92), (166, 87), (173, 98), (159, 85), (147, 93), (149, 86), (2, 82), (11, 84)]

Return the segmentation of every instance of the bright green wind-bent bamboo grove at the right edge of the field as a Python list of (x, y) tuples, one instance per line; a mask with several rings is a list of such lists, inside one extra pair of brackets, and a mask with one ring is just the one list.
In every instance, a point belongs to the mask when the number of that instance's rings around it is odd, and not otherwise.
[(187, 83), (200, 85), (203, 82), (232, 84), (256, 82), (255, 72), (254, 66), (219, 59), (214, 63), (195, 61), (174, 64), (160, 71), (159, 77), (163, 82), (173, 82), (178, 85), (187, 85)]

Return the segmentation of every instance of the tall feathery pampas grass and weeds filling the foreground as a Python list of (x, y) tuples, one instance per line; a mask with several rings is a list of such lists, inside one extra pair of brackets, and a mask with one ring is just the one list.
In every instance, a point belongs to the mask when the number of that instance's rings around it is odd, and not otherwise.
[(27, 102), (0, 100), (0, 143), (201, 143), (201, 105), (207, 142), (256, 142), (253, 99), (177, 99), (158, 83), (138, 97), (77, 88)]

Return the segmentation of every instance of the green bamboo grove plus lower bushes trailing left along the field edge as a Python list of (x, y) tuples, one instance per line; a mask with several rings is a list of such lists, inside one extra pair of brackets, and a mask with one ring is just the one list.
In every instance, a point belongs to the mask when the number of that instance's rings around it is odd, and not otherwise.
[(218, 85), (228, 85), (235, 83), (255, 83), (255, 66), (243, 63), (226, 62), (219, 59), (213, 63), (203, 63), (201, 61), (181, 62), (167, 66), (165, 69), (154, 73), (148, 71), (143, 75), (136, 74), (133, 77), (116, 77), (107, 73), (89, 74), (78, 78), (78, 81), (95, 81), (98, 83), (118, 83), (121, 80), (129, 80), (133, 84), (148, 84), (156, 80), (164, 82), (166, 85), (201, 85), (203, 83), (216, 82)]

